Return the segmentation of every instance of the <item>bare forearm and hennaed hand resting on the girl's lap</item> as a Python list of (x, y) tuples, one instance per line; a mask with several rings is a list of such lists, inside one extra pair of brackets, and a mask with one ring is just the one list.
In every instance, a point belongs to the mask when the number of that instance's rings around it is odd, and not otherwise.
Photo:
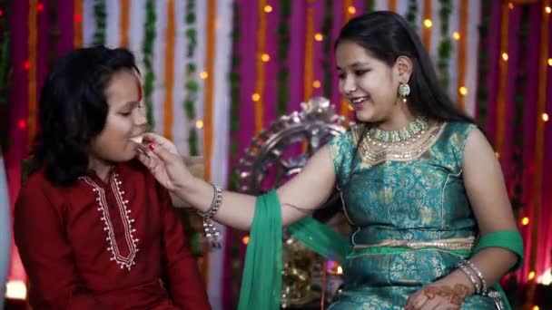
[[(497, 259), (500, 257), (500, 259)], [(484, 248), (469, 260), (478, 267), (481, 275), (485, 279), (487, 287), (493, 286), (500, 280), (500, 278), (508, 273), (508, 270), (512, 266), (516, 265), (517, 256), (508, 251), (507, 249), (500, 247), (487, 247)], [(468, 270), (471, 271), (470, 268)], [(473, 276), (478, 279), (477, 274), (474, 272)], [(457, 269), (445, 276), (443, 279), (450, 286), (461, 284), (468, 287), (469, 295), (475, 294), (476, 289), (469, 280), (469, 277), (464, 274), (460, 269)]]

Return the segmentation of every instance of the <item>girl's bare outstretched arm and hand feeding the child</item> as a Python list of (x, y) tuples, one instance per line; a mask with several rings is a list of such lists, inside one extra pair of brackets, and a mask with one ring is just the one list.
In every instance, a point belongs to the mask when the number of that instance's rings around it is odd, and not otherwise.
[[(152, 133), (146, 134), (144, 139), (152, 141), (155, 146), (142, 148), (139, 159), (155, 178), (193, 208), (201, 211), (210, 208), (212, 186), (192, 176), (173, 143)], [(330, 198), (335, 180), (330, 150), (324, 146), (311, 157), (300, 174), (277, 190), (283, 225), (289, 225), (320, 208)], [(254, 208), (254, 196), (224, 191), (215, 219), (232, 228), (247, 230), (251, 227)]]

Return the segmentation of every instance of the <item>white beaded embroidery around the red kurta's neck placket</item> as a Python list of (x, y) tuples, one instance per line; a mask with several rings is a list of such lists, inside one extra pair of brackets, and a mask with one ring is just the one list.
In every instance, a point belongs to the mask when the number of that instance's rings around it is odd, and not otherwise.
[(117, 240), (115, 239), (115, 231), (113, 229), (113, 221), (109, 215), (109, 208), (107, 204), (107, 199), (105, 197), (105, 191), (102, 189), (93, 179), (88, 177), (81, 177), (88, 185), (92, 187), (94, 193), (96, 193), (96, 201), (100, 205), (98, 211), (102, 212), (102, 221), (104, 222), (104, 231), (107, 232), (106, 241), (109, 242), (109, 247), (107, 250), (112, 253), (110, 260), (114, 260), (121, 268), (126, 267), (131, 269), (135, 265), (134, 258), (136, 257), (136, 252), (138, 252), (138, 247), (136, 243), (139, 241), (137, 238), (133, 237), (133, 233), (136, 232), (136, 229), (133, 228), (134, 219), (129, 217), (131, 210), (127, 208), (128, 200), (123, 199), (124, 191), (119, 188), (121, 181), (117, 179), (118, 175), (113, 173), (113, 178), (110, 181), (111, 188), (113, 189), (113, 194), (117, 201), (117, 208), (121, 215), (121, 220), (123, 221), (123, 230), (124, 230), (124, 240), (129, 249), (128, 256), (123, 257), (117, 246)]

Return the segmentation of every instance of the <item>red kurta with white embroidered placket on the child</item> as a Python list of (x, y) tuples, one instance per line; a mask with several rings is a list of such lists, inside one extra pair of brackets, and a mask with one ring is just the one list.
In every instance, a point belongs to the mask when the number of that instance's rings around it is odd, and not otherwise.
[(44, 170), (21, 189), (15, 243), (34, 309), (210, 309), (167, 190), (136, 162), (109, 183), (54, 187)]

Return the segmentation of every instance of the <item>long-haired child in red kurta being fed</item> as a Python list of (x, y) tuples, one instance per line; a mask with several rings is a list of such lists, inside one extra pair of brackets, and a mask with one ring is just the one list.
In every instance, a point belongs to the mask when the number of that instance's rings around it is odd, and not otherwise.
[(15, 242), (34, 309), (210, 309), (171, 199), (134, 157), (145, 131), (133, 54), (62, 57), (41, 93)]

